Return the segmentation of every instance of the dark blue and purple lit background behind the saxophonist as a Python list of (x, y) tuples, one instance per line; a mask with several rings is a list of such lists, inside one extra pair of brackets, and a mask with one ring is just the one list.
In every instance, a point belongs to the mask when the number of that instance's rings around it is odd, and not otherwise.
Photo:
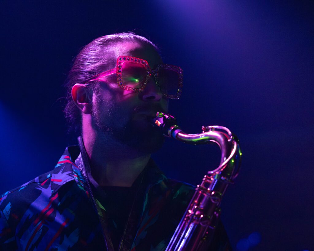
[[(75, 143), (59, 98), (79, 49), (137, 29), (184, 70), (170, 108), (181, 128), (224, 125), (240, 138), (241, 172), (222, 203), (234, 249), (314, 250), (313, 10), (310, 1), (1, 1), (0, 192), (48, 172)], [(168, 139), (154, 157), (196, 185), (217, 148)], [(261, 241), (247, 247), (254, 232)]]

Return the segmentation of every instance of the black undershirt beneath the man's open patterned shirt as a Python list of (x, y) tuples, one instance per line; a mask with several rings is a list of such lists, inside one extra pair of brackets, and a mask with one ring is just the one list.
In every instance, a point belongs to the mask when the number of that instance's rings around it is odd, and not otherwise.
[(136, 187), (101, 187), (106, 193), (105, 208), (113, 224), (112, 244), (118, 250), (134, 201)]

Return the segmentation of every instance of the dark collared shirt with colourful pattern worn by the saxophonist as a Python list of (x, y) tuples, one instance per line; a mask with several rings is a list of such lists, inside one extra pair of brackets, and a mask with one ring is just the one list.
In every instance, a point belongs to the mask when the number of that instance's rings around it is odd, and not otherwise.
[[(165, 177), (152, 160), (135, 183), (118, 250), (165, 250), (195, 188)], [(99, 192), (79, 137), (51, 172), (0, 196), (0, 250), (114, 250), (116, 225)], [(211, 250), (231, 250), (221, 223)]]

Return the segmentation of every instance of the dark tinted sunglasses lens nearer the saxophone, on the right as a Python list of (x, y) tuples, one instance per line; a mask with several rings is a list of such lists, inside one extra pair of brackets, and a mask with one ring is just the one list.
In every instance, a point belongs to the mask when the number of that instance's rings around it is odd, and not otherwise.
[(161, 91), (165, 94), (176, 95), (179, 90), (179, 74), (170, 69), (159, 69), (158, 81)]

